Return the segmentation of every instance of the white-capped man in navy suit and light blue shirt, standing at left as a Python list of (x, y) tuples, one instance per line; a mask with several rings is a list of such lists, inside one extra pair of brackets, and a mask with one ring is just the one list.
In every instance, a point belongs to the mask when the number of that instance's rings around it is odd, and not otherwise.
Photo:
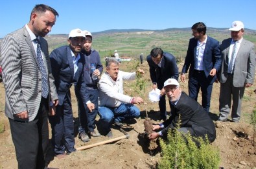
[[(56, 115), (49, 117), (52, 126), (52, 145), (57, 157), (65, 157), (65, 152), (75, 152), (74, 123), (69, 88), (72, 84), (83, 83), (82, 72), (84, 57), (81, 50), (85, 41), (84, 32), (80, 29), (71, 30), (67, 42), (51, 52), (52, 75), (58, 92), (59, 104)], [(80, 85), (85, 90), (85, 85)], [(64, 139), (64, 140), (63, 140)]]

